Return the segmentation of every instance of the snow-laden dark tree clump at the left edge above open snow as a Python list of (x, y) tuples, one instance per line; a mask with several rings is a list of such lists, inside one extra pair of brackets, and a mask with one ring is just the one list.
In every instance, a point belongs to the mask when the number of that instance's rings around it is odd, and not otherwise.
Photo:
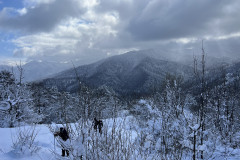
[(37, 123), (40, 119), (33, 110), (28, 86), (18, 84), (10, 72), (0, 72), (0, 127)]

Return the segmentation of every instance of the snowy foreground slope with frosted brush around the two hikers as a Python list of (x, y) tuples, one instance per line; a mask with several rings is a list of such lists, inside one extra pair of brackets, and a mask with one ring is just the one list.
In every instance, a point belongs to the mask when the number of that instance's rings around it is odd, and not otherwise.
[[(127, 111), (122, 111), (118, 118), (105, 119), (102, 134), (93, 129), (92, 121), (79, 121), (74, 124), (42, 124), (21, 126), (15, 128), (0, 128), (0, 159), (1, 160), (55, 160), (55, 159), (192, 159), (193, 133), (181, 130), (180, 121), (173, 122), (170, 130), (185, 132), (181, 145), (185, 151), (176, 150), (175, 154), (163, 155), (165, 149), (163, 139), (158, 134), (164, 134), (161, 124), (163, 117), (156, 118), (159, 113), (157, 108), (149, 105), (149, 102), (140, 100), (135, 106), (141, 107), (148, 114), (146, 124), (140, 124), (142, 120), (133, 116), (126, 116)], [(191, 119), (192, 115), (186, 119)], [(61, 146), (59, 139), (54, 138), (53, 133), (59, 127), (68, 128), (70, 131), (70, 142), (66, 143), (70, 149), (69, 157), (61, 157)], [(190, 126), (192, 132), (199, 128), (198, 125)], [(190, 134), (191, 133), (191, 134)], [(177, 136), (177, 133), (165, 135)], [(235, 138), (240, 138), (240, 133)], [(158, 138), (157, 138), (158, 137)], [(240, 149), (231, 148), (218, 140), (220, 137), (211, 137), (204, 147), (198, 146), (197, 154), (204, 150), (206, 159), (238, 160)], [(169, 141), (168, 141), (169, 140)], [(171, 144), (171, 137), (166, 143)], [(215, 143), (215, 144), (212, 144)], [(169, 146), (170, 147), (170, 146)], [(172, 146), (176, 147), (176, 146)], [(174, 149), (174, 148), (172, 148)], [(175, 150), (175, 149), (174, 149)], [(179, 153), (182, 152), (182, 153)], [(87, 157), (87, 158), (86, 158)]]

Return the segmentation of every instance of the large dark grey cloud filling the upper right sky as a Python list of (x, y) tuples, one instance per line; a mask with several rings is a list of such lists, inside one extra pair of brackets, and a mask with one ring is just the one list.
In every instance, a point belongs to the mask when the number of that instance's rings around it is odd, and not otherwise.
[(135, 40), (166, 40), (239, 32), (236, 0), (151, 0), (131, 18), (127, 31)]

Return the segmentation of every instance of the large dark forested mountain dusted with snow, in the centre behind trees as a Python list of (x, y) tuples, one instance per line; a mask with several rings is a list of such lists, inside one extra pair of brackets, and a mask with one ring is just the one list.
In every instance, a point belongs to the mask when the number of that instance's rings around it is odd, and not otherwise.
[(109, 86), (120, 94), (148, 94), (160, 88), (168, 73), (189, 79), (191, 66), (169, 61), (153, 50), (132, 51), (90, 65), (61, 72), (44, 80), (48, 86), (76, 92), (76, 72), (82, 82), (91, 87)]

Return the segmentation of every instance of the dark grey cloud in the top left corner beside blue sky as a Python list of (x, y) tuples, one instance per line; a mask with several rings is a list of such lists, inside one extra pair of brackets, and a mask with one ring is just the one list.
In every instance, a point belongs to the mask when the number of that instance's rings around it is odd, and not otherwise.
[(76, 1), (56, 0), (50, 4), (43, 3), (29, 8), (24, 15), (0, 15), (0, 27), (25, 32), (47, 32), (64, 19), (80, 16), (83, 12), (84, 9), (81, 9)]

